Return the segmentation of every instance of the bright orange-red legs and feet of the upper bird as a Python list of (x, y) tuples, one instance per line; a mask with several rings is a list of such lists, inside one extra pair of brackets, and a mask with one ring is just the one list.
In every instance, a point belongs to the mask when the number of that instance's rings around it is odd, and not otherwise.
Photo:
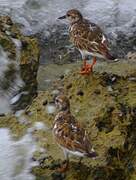
[(80, 74), (82, 75), (89, 75), (92, 71), (93, 71), (93, 66), (96, 64), (96, 57), (93, 58), (93, 63), (92, 64), (88, 64), (86, 62), (86, 60), (84, 60), (83, 62), (83, 67), (80, 71)]

